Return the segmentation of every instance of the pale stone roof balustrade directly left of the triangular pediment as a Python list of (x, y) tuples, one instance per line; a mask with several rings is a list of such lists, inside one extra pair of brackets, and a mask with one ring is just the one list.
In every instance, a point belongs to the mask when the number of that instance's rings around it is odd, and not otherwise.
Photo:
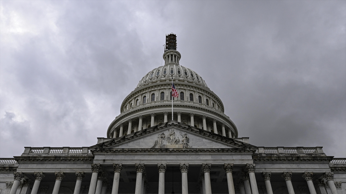
[(88, 147), (25, 147), (23, 154), (91, 154)]

